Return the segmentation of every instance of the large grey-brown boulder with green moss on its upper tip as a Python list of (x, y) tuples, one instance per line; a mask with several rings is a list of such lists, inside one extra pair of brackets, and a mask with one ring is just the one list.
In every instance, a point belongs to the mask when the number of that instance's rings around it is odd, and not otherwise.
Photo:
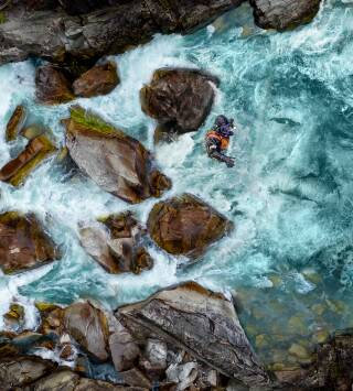
[(171, 187), (171, 181), (153, 167), (151, 154), (139, 141), (99, 117), (76, 106), (64, 123), (71, 158), (106, 192), (137, 204)]

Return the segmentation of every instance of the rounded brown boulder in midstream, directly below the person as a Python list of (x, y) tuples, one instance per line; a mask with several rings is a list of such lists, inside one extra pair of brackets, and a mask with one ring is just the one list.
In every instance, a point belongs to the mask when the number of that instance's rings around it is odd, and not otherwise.
[(156, 204), (147, 222), (151, 238), (171, 254), (195, 258), (233, 229), (233, 222), (202, 199), (183, 194)]

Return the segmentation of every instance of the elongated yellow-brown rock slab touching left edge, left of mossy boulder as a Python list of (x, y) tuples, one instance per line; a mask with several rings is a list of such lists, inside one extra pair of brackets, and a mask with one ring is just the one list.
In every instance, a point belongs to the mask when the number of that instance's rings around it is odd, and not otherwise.
[(21, 185), (29, 174), (55, 151), (56, 148), (45, 135), (30, 140), (25, 149), (0, 170), (0, 181), (12, 186)]

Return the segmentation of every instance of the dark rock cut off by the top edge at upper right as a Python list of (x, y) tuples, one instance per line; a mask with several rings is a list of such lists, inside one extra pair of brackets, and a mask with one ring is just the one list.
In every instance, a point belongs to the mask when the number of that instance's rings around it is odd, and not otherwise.
[(250, 0), (255, 22), (263, 29), (284, 31), (310, 22), (321, 0)]

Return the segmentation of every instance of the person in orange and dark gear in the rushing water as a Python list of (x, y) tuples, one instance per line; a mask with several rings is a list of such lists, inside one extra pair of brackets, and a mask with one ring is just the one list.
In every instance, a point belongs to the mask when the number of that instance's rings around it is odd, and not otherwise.
[(234, 120), (225, 116), (218, 116), (213, 128), (206, 134), (206, 151), (210, 158), (225, 163), (228, 167), (234, 166), (234, 160), (224, 152), (228, 149), (229, 139), (234, 135)]

